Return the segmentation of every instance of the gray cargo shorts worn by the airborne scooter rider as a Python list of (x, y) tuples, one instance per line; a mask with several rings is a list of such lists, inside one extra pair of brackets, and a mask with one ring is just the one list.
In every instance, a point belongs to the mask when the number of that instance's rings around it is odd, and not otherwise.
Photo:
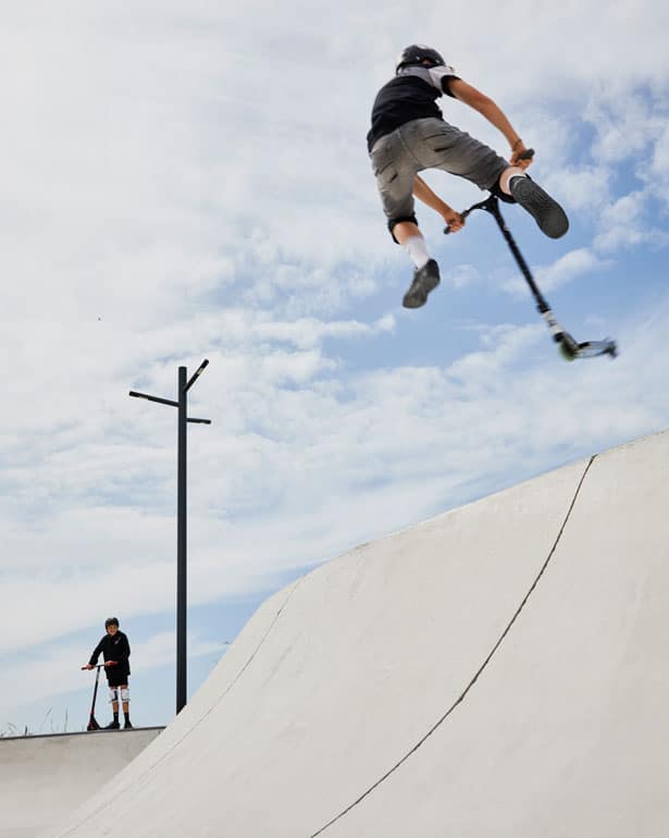
[(442, 169), (492, 189), (509, 163), (492, 148), (455, 125), (434, 118), (412, 120), (374, 143), (372, 170), (388, 230), (416, 221), (413, 178), (424, 169)]

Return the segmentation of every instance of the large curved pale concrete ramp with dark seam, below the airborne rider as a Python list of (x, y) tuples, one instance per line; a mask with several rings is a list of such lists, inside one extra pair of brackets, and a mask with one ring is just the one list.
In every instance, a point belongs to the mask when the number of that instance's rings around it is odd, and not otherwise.
[(668, 463), (658, 434), (323, 565), (49, 835), (666, 838)]

